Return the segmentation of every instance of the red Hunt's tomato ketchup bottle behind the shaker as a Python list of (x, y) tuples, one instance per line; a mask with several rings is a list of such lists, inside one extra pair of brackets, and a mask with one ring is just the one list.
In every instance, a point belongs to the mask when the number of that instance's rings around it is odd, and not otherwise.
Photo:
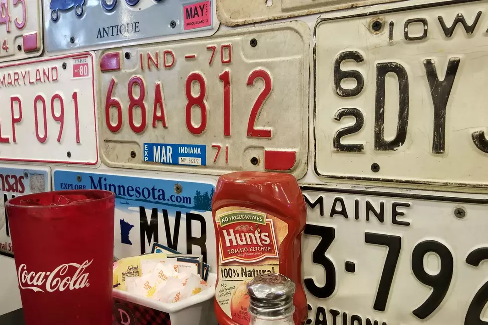
[(306, 206), (292, 175), (236, 172), (219, 177), (212, 199), (217, 247), (214, 309), (219, 325), (250, 322), (247, 283), (281, 273), (296, 283), (295, 325), (307, 319), (301, 276)]

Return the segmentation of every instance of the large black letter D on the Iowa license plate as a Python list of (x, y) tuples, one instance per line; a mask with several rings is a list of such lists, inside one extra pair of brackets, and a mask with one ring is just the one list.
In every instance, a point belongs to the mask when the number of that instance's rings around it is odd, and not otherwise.
[[(391, 141), (384, 138), (384, 104), (386, 74), (394, 73), (398, 78), (400, 101), (396, 136)], [(405, 68), (397, 62), (380, 62), (376, 64), (376, 110), (374, 120), (374, 148), (378, 151), (395, 151), (405, 143), (408, 127), (408, 75)]]

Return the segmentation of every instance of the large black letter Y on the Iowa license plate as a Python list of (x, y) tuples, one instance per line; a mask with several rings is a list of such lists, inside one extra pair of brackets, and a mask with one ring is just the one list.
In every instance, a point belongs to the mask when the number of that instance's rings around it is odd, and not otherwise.
[(429, 81), (430, 95), (434, 104), (434, 130), (432, 136), (432, 152), (444, 153), (446, 146), (446, 107), (451, 95), (454, 78), (458, 72), (460, 58), (450, 58), (446, 75), (439, 80), (433, 59), (424, 60), (425, 73)]

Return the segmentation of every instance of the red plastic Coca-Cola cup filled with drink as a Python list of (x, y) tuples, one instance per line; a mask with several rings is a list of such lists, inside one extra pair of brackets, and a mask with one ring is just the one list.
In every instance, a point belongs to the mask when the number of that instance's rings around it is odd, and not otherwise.
[(5, 207), (26, 325), (110, 325), (115, 196), (36, 193)]

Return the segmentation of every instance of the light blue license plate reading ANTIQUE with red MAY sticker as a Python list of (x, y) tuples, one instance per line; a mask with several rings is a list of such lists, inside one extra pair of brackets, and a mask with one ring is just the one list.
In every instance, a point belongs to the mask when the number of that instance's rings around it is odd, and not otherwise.
[(210, 36), (219, 27), (215, 0), (46, 0), (44, 23), (50, 54)]

